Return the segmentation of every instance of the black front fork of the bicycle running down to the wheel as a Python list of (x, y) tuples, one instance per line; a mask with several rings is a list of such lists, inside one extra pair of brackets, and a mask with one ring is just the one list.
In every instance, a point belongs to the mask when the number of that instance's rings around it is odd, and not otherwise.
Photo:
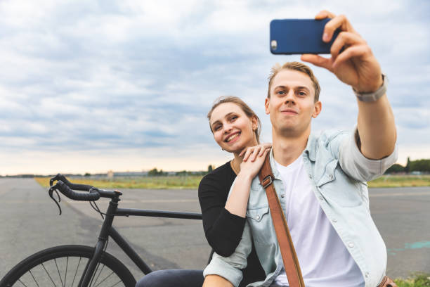
[(98, 241), (94, 248), (93, 256), (86, 263), (86, 267), (84, 269), (83, 276), (79, 281), (78, 287), (91, 286), (92, 280), (94, 279), (94, 275), (96, 273), (98, 262), (100, 262), (100, 259), (105, 250), (105, 246), (107, 244), (109, 229), (110, 227), (112, 227), (112, 222), (115, 217), (115, 212), (117, 211), (117, 208), (118, 208), (118, 201), (119, 201), (119, 198), (112, 198), (112, 200), (109, 203), (109, 207), (107, 208), (107, 212), (105, 215), (105, 220), (103, 221), (102, 229), (100, 230), (100, 235), (98, 236)]

